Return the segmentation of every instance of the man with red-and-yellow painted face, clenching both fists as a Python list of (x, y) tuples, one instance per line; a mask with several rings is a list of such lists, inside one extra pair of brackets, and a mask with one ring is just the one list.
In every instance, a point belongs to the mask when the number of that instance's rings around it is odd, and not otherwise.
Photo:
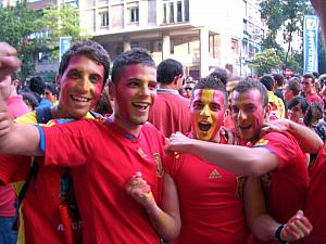
[[(226, 138), (220, 134), (220, 129), (226, 115), (226, 101), (225, 86), (221, 80), (213, 77), (200, 79), (193, 89), (190, 101), (192, 126), (188, 138), (225, 144)], [(176, 216), (175, 211), (178, 211), (178, 206), (173, 206), (173, 202), (179, 198), (181, 217), (180, 235), (173, 243), (247, 243), (249, 233), (243, 214), (243, 188), (246, 188), (244, 193), (250, 192), (247, 196), (244, 195), (248, 203), (251, 201), (262, 203), (264, 196), (260, 189), (260, 182), (250, 180), (246, 183), (244, 177), (208, 164), (204, 159), (190, 153), (176, 153), (174, 160), (165, 163), (165, 177), (168, 180), (164, 181), (163, 188), (166, 195), (163, 194), (163, 202), (167, 202), (170, 205), (168, 208), (163, 207), (163, 209), (172, 217)], [(154, 201), (147, 197), (149, 185), (141, 176), (131, 179), (126, 189), (145, 206), (149, 217), (153, 218), (158, 206)], [(278, 224), (266, 216), (263, 204), (248, 205), (248, 209), (255, 214), (253, 217), (250, 216), (252, 221), (255, 221), (256, 224), (264, 223), (260, 229), (262, 232), (266, 232), (266, 228), (271, 224)], [(254, 209), (252, 209), (253, 207)], [(301, 219), (298, 221), (293, 218), (290, 219), (288, 226), (294, 228), (294, 233), (289, 231), (286, 240), (296, 240), (296, 235), (302, 231), (296, 226), (305, 223), (305, 218), (302, 218), (302, 222)], [(309, 226), (309, 222), (306, 224)], [(158, 226), (155, 228), (164, 239), (173, 241), (175, 233), (171, 231), (170, 226), (171, 223), (166, 222), (165, 228), (160, 229)], [(268, 234), (266, 239), (273, 240), (274, 232)]]

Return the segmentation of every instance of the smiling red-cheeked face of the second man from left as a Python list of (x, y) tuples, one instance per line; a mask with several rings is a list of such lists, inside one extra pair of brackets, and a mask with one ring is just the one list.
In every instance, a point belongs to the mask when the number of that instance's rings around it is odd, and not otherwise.
[[(126, 130), (137, 133), (148, 120), (149, 110), (156, 98), (156, 69), (142, 64), (126, 65), (118, 81), (110, 82), (114, 99), (114, 120)], [(134, 131), (136, 129), (136, 131)]]

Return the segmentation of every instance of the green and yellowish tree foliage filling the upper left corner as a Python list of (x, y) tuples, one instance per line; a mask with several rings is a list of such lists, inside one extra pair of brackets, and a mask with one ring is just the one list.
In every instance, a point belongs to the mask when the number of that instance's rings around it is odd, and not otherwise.
[[(0, 41), (13, 46), (23, 61), (20, 77), (25, 79), (35, 72), (39, 52), (51, 51), (52, 59), (59, 56), (59, 37), (72, 40), (88, 39), (79, 27), (79, 12), (71, 4), (53, 5), (43, 11), (29, 9), (26, 0), (15, 7), (0, 5)], [(4, 24), (5, 23), (5, 24)]]

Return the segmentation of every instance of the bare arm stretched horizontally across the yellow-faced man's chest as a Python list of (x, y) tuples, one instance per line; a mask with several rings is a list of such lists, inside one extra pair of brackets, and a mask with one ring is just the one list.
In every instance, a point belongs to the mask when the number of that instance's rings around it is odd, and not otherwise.
[(189, 139), (180, 132), (171, 136), (166, 150), (192, 153), (221, 168), (242, 176), (260, 176), (278, 166), (277, 156), (266, 149), (205, 142)]

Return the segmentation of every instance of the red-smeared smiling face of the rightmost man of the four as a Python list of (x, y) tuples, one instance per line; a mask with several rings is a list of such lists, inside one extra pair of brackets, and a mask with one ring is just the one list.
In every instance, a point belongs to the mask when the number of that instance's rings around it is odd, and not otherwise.
[(258, 140), (267, 114), (268, 107), (263, 107), (262, 95), (258, 89), (233, 92), (231, 118), (241, 139)]

